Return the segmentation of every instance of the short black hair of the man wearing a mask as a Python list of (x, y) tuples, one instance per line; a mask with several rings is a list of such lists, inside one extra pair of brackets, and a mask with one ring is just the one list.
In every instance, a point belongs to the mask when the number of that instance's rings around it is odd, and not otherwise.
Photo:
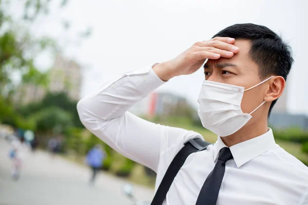
[[(256, 24), (235, 24), (213, 37), (216, 36), (249, 40), (249, 57), (258, 65), (259, 77), (265, 79), (274, 74), (286, 80), (294, 61), (292, 49), (271, 29)], [(272, 102), (268, 116), (276, 101), (277, 99)]]

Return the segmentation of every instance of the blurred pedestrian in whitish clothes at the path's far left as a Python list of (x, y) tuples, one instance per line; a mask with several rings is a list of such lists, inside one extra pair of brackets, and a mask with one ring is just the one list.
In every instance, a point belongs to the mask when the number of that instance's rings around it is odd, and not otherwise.
[(9, 155), (12, 160), (12, 178), (17, 180), (20, 178), (22, 162), (30, 150), (30, 144), (24, 137), (18, 137), (12, 141), (11, 145)]

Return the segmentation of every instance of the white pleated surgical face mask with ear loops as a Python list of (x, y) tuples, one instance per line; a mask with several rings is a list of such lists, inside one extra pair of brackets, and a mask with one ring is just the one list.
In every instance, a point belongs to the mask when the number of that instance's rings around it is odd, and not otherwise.
[(251, 114), (265, 103), (264, 101), (249, 114), (243, 113), (241, 101), (244, 91), (253, 89), (272, 77), (246, 90), (240, 86), (204, 80), (198, 98), (198, 115), (203, 127), (221, 137), (237, 132), (252, 118)]

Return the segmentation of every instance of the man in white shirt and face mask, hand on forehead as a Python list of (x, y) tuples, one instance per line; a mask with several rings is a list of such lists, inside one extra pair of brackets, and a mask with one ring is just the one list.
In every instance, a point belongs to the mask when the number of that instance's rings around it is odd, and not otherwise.
[(198, 114), (219, 136), (188, 156), (163, 204), (308, 204), (308, 168), (280, 148), (267, 127), (293, 58), (264, 26), (230, 26), (174, 59), (127, 73), (79, 101), (80, 118), (113, 149), (156, 171), (157, 190), (184, 142), (202, 136), (127, 110), (170, 78), (194, 73), (206, 59)]

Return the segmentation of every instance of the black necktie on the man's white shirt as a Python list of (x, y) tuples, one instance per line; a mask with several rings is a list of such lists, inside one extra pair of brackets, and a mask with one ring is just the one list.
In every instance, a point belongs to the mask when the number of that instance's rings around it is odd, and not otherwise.
[(199, 193), (196, 205), (215, 205), (224, 175), (227, 160), (233, 156), (229, 148), (224, 147), (219, 151), (214, 169), (209, 173)]

